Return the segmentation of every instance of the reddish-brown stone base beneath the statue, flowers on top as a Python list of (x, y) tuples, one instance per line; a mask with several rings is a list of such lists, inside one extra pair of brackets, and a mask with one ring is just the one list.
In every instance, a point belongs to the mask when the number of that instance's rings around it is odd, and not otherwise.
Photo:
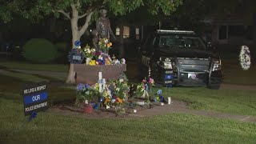
[(102, 72), (102, 78), (117, 79), (122, 72), (126, 71), (126, 64), (89, 66), (74, 64), (76, 83), (94, 85), (98, 82), (98, 72)]

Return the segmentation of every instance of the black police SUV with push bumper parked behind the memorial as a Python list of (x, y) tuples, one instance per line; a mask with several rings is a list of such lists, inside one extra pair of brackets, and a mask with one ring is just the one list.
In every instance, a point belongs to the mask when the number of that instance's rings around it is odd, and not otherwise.
[(222, 82), (219, 55), (194, 31), (157, 30), (138, 52), (140, 74), (158, 84), (218, 89)]

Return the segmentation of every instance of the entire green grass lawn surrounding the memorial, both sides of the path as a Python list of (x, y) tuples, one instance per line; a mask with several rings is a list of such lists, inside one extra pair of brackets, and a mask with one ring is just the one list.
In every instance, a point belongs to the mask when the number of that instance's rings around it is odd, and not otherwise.
[[(14, 66), (9, 64), (0, 62), (2, 67)], [(16, 66), (23, 64), (33, 70), (51, 68), (62, 71), (68, 68), (54, 65), (30, 67), (26, 63), (17, 63)], [(22, 86), (26, 82), (49, 82), (52, 77), (1, 73), (0, 79), (0, 143), (255, 143), (256, 139), (256, 123), (190, 114), (91, 119), (82, 115), (65, 116), (46, 112), (38, 114), (33, 122), (27, 122), (23, 112)], [(75, 90), (50, 84), (47, 91), (50, 104), (74, 102)], [(162, 92), (165, 97), (190, 102), (191, 109), (256, 115), (256, 90), (178, 87), (162, 88)]]

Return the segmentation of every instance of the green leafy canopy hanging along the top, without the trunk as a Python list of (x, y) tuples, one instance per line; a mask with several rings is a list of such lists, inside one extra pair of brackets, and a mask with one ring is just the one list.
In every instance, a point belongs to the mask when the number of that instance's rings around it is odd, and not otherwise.
[(182, 4), (182, 0), (6, 0), (0, 4), (0, 18), (4, 22), (9, 22), (14, 18), (14, 14), (38, 20), (54, 12), (57, 17), (64, 14), (70, 18), (72, 6), (81, 16), (102, 7), (115, 15), (125, 15), (140, 6), (146, 6), (151, 14), (162, 12), (170, 15)]

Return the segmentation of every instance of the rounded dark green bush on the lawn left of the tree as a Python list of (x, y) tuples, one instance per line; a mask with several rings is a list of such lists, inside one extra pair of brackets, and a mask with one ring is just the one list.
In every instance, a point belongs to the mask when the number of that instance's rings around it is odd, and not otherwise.
[(26, 42), (23, 50), (26, 60), (37, 63), (52, 62), (57, 57), (54, 45), (43, 38), (32, 38)]

